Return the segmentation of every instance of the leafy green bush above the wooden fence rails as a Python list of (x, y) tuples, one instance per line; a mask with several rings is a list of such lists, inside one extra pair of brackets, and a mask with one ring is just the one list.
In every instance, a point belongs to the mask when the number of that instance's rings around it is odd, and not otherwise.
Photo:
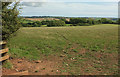
[(19, 2), (2, 2), (2, 40), (8, 40), (20, 28)]

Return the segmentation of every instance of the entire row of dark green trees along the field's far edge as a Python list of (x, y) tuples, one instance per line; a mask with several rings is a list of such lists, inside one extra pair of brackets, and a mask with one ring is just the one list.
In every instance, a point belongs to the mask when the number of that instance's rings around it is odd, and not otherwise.
[(23, 27), (41, 27), (42, 25), (46, 25), (48, 27), (55, 26), (90, 26), (96, 24), (118, 24), (118, 20), (111, 20), (108, 18), (70, 18), (70, 20), (66, 20), (65, 18), (61, 18), (59, 20), (44, 20), (44, 21), (31, 21), (24, 19), (21, 22)]

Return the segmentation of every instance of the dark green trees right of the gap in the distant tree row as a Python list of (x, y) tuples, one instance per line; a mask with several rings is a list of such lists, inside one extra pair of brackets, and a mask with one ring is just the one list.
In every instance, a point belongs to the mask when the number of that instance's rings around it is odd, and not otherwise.
[(107, 18), (71, 18), (70, 23), (73, 24), (73, 26), (89, 26), (96, 24), (116, 24), (116, 21)]

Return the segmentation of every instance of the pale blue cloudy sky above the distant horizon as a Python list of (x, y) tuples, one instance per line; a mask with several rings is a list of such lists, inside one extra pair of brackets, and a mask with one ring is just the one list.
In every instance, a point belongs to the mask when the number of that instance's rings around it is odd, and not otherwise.
[(118, 0), (36, 1), (23, 0), (21, 16), (118, 17)]

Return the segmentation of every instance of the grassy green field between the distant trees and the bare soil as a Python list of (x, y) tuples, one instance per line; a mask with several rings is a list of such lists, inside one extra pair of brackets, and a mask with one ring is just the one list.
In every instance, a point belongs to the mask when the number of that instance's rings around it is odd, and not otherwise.
[(64, 55), (61, 72), (118, 72), (118, 25), (23, 27), (16, 34), (8, 44), (12, 57), (39, 60)]

